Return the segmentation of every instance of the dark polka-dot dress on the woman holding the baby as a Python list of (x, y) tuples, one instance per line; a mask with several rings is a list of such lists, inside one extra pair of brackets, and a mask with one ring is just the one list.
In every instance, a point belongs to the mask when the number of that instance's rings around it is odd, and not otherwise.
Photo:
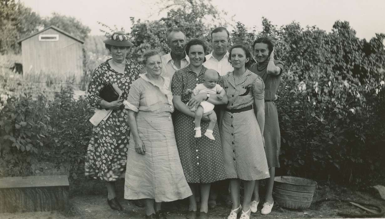
[[(185, 93), (186, 89), (193, 90), (197, 84), (203, 83), (206, 70), (203, 66), (198, 76), (192, 72), (190, 65), (177, 70), (172, 77), (172, 94), (181, 96), (182, 102), (186, 104), (190, 99), (189, 94)], [(215, 140), (210, 140), (204, 135), (195, 138), (194, 118), (178, 110), (175, 110), (174, 114), (176, 145), (186, 181), (211, 183), (225, 179), (218, 125), (216, 124), (213, 130)], [(202, 120), (201, 129), (206, 130), (209, 122)]]

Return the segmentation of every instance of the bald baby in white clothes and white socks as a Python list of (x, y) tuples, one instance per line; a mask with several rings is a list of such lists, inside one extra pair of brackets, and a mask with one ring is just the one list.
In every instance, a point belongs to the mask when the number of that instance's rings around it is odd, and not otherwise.
[[(207, 93), (207, 94), (217, 94), (217, 98), (219, 100), (223, 99), (224, 95), (226, 95), (226, 92), (221, 87), (221, 85), (217, 84), (218, 81), (218, 73), (213, 69), (207, 69), (204, 73), (204, 83), (198, 84), (194, 90), (187, 89), (186, 93), (191, 94), (191, 97), (194, 95), (200, 94), (200, 93)], [(214, 109), (214, 104), (207, 102), (206, 100), (203, 100), (201, 104), (197, 107), (197, 109), (194, 109), (194, 107), (191, 108), (191, 111), (195, 111), (195, 137), (200, 138), (202, 137), (201, 133), (201, 119), (204, 113), (210, 112)], [(208, 137), (211, 140), (215, 140), (213, 135), (213, 129), (216, 124), (216, 114), (213, 110), (213, 113), (208, 115), (210, 119), (210, 123), (207, 127), (206, 132), (204, 135)]]

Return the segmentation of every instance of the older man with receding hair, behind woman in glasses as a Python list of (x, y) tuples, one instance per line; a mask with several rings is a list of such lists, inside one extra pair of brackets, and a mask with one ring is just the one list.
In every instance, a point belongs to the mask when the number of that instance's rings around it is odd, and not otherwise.
[(190, 64), (189, 57), (184, 52), (184, 45), (186, 45), (186, 34), (182, 29), (172, 27), (167, 30), (166, 34), (167, 45), (171, 49), (166, 55), (162, 55), (162, 76), (172, 76), (176, 70), (182, 69)]

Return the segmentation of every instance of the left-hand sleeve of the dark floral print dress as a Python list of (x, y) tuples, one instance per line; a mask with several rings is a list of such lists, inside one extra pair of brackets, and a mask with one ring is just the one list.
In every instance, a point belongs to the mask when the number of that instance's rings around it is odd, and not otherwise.
[(103, 68), (102, 65), (99, 65), (94, 70), (87, 89), (88, 102), (92, 107), (101, 108), (100, 102), (102, 102), (102, 98), (100, 97), (100, 90), (104, 87), (102, 75)]

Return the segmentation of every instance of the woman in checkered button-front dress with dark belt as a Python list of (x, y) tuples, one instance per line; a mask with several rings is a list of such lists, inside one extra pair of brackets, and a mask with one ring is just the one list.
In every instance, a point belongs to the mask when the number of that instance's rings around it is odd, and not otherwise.
[[(220, 121), (224, 167), (226, 177), (230, 179), (233, 201), (228, 219), (236, 219), (241, 211), (241, 219), (248, 219), (255, 180), (270, 177), (261, 134), (264, 128), (264, 84), (261, 77), (246, 69), (251, 59), (246, 47), (235, 45), (229, 59), (234, 71), (221, 78), (228, 104)], [(246, 211), (240, 205), (239, 179), (244, 180), (243, 206)]]

